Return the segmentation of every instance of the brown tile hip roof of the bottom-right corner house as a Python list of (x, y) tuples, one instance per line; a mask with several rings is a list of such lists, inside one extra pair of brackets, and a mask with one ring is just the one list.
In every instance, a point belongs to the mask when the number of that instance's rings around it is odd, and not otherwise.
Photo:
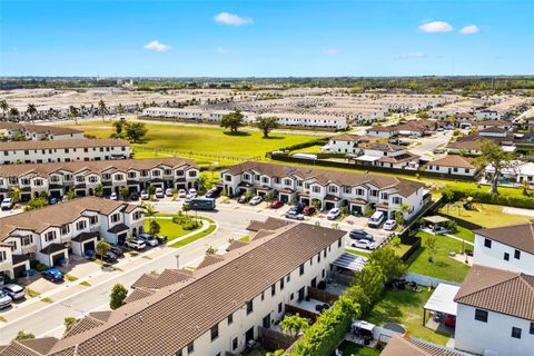
[(534, 322), (534, 276), (475, 265), (454, 301)]

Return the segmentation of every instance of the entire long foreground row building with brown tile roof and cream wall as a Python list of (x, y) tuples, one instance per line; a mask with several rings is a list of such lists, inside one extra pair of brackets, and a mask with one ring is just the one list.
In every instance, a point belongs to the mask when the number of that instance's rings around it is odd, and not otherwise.
[(12, 342), (2, 353), (22, 347), (28, 356), (241, 354), (284, 317), (287, 305), (297, 306), (309, 287), (329, 277), (345, 235), (294, 224), (207, 256), (194, 271), (145, 275), (125, 306), (90, 313), (61, 339)]

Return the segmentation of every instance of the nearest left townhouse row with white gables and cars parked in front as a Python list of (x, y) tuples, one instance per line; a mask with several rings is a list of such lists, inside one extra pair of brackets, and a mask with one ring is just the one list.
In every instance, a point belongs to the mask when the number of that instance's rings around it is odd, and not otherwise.
[(95, 250), (99, 237), (122, 245), (144, 231), (142, 208), (85, 197), (0, 218), (0, 273), (21, 277), (30, 261), (56, 266)]

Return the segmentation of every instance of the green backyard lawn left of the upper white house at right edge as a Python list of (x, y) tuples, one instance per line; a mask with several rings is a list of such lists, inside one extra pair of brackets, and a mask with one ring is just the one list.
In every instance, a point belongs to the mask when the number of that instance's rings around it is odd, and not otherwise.
[[(448, 257), (448, 253), (459, 253), (462, 250), (462, 241), (446, 236), (437, 236), (437, 251), (434, 256), (434, 261), (431, 263), (428, 261), (426, 239), (432, 235), (418, 231), (417, 236), (422, 238), (422, 247), (407, 260), (408, 271), (451, 281), (459, 283), (464, 280), (469, 266)], [(466, 245), (464, 248), (471, 248), (471, 246)]]

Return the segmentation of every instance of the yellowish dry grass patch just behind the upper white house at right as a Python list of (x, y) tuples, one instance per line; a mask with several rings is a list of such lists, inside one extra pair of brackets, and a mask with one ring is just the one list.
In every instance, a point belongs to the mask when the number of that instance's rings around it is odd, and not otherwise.
[[(501, 194), (503, 194), (503, 191)], [(532, 219), (531, 217), (524, 215), (504, 214), (504, 206), (502, 205), (478, 204), (476, 205), (476, 207), (478, 207), (479, 209), (466, 210), (462, 208), (458, 215), (457, 207), (445, 205), (439, 209), (439, 212), (451, 215), (483, 227), (498, 227), (512, 224), (527, 222), (530, 219)]]

